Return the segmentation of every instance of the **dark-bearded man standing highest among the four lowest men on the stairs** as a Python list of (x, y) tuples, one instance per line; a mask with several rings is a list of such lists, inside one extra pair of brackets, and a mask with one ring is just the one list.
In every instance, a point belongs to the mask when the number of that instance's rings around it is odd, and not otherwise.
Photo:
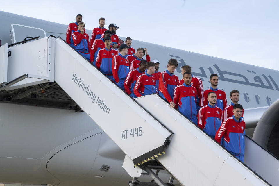
[(217, 88), (218, 80), (219, 80), (217, 74), (211, 74), (209, 76), (209, 78), (210, 78), (209, 81), (211, 83), (210, 89), (205, 90), (203, 92), (199, 106), (203, 107), (203, 106), (207, 105), (208, 100), (205, 99), (205, 97), (207, 96), (208, 92), (215, 92), (215, 94), (217, 95), (216, 106), (221, 108), (223, 111), (224, 108), (226, 108), (226, 106), (227, 106), (226, 93), (223, 90), (219, 90)]

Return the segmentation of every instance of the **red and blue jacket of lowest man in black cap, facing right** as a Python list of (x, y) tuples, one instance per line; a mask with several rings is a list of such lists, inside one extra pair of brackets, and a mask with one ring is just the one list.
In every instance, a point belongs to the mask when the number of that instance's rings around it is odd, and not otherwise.
[[(112, 74), (115, 82), (123, 82), (130, 71), (128, 61), (120, 53), (112, 58)], [(124, 87), (123, 87), (124, 89)]]

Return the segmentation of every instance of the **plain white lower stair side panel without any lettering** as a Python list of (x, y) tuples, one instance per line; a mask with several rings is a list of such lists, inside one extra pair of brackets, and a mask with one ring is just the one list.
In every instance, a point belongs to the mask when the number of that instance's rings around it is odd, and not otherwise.
[(158, 95), (135, 100), (174, 133), (157, 159), (182, 185), (267, 185)]

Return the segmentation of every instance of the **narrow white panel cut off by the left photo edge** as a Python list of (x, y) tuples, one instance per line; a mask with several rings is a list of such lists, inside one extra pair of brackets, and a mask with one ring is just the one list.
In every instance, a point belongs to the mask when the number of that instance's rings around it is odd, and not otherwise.
[(8, 77), (8, 43), (0, 47), (0, 84), (7, 82)]

